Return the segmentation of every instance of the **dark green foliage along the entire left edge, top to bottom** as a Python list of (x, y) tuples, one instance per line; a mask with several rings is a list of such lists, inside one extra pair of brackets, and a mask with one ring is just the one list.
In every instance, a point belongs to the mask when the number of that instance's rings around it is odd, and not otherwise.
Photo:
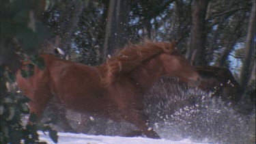
[[(31, 64), (21, 70), (24, 77), (33, 75), (34, 66), (44, 70), (44, 60), (38, 55), (39, 48), (48, 35), (48, 27), (40, 18), (50, 1), (1, 1), (0, 32), (1, 48), (0, 63), (9, 68), (18, 66), (17, 61), (12, 61), (18, 52), (29, 57)], [(51, 3), (53, 4), (53, 3)], [(51, 139), (57, 143), (57, 132), (48, 125), (36, 123), (35, 115), (30, 116), (31, 124), (23, 124), (22, 115), (29, 114), (25, 96), (16, 91), (7, 91), (5, 84), (14, 83), (15, 75), (1, 66), (1, 95), (0, 95), (0, 143), (38, 143), (38, 130), (48, 131)]]

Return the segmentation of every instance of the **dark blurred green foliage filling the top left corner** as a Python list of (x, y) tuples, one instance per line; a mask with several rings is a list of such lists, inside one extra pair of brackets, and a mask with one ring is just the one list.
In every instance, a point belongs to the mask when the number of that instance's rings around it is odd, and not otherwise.
[(15, 47), (13, 40), (17, 40), (25, 53), (38, 53), (38, 47), (40, 47), (48, 33), (47, 27), (38, 20), (42, 7), (43, 5), (40, 5), (39, 1), (26, 1), (26, 3), (18, 0), (1, 2), (0, 20), (4, 48), (13, 50)]

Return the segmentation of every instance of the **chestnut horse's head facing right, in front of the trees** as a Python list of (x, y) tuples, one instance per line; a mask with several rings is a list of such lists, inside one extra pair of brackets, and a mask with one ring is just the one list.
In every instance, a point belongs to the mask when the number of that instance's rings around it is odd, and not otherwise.
[[(174, 44), (170, 44), (170, 46), (174, 46)], [(171, 53), (162, 53), (159, 55), (164, 67), (163, 74), (165, 76), (175, 76), (190, 86), (199, 85), (201, 78), (197, 70), (193, 66), (190, 66), (190, 63), (183, 55), (177, 53), (174, 48), (172, 49), (173, 51)]]

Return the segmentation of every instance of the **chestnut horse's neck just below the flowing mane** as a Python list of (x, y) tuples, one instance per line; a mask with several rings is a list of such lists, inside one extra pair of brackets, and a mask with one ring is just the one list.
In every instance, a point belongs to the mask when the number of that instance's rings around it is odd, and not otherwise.
[(130, 76), (134, 85), (138, 87), (141, 91), (145, 92), (147, 89), (152, 87), (153, 83), (157, 81), (158, 78), (162, 75), (163, 67), (160, 60), (157, 58), (150, 59), (135, 68), (131, 73)]

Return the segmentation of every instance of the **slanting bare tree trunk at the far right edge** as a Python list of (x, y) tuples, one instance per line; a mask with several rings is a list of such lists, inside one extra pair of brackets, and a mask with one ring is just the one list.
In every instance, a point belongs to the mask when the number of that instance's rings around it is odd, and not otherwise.
[[(244, 61), (240, 74), (241, 91), (244, 93), (251, 77), (251, 60), (253, 59), (253, 51), (255, 50), (255, 1), (251, 10), (251, 17), (248, 24), (248, 32), (246, 37)], [(244, 97), (244, 96), (243, 96)]]

